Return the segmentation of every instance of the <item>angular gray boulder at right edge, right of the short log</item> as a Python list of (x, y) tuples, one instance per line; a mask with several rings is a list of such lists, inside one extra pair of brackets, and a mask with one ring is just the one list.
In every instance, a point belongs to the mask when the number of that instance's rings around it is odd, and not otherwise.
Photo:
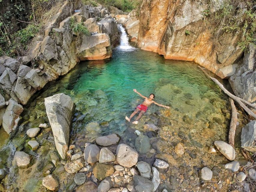
[(255, 153), (256, 152), (256, 121), (253, 120), (242, 128), (241, 147)]

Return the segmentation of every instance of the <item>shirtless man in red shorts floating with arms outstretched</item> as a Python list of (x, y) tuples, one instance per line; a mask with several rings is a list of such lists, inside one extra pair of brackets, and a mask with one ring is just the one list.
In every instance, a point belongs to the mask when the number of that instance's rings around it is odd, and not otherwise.
[(167, 108), (167, 109), (170, 108), (169, 106), (161, 105), (161, 104), (158, 104), (157, 102), (153, 101), (153, 99), (155, 98), (155, 95), (154, 95), (154, 94), (150, 94), (150, 95), (149, 95), (149, 98), (147, 98), (147, 97), (141, 95), (136, 89), (133, 89), (133, 91), (134, 91), (135, 93), (139, 94), (140, 97), (144, 98), (145, 101), (144, 101), (142, 104), (139, 104), (139, 105), (137, 106), (136, 110), (131, 114), (130, 118), (128, 118), (127, 116), (125, 116), (125, 119), (126, 119), (128, 122), (130, 122), (130, 121), (131, 121), (131, 118), (133, 118), (133, 116), (134, 116), (136, 113), (138, 113), (138, 112), (140, 111), (140, 114), (137, 116), (137, 118), (135, 119), (135, 121), (132, 122), (133, 124), (136, 124), (136, 125), (137, 125), (137, 124), (138, 124), (138, 120), (140, 119), (140, 117), (141, 117), (144, 113), (146, 113), (146, 111), (147, 111), (149, 105), (151, 105), (152, 103), (153, 103), (153, 104), (156, 104), (156, 105), (158, 105), (158, 106), (160, 106), (160, 107), (165, 107), (165, 108)]

